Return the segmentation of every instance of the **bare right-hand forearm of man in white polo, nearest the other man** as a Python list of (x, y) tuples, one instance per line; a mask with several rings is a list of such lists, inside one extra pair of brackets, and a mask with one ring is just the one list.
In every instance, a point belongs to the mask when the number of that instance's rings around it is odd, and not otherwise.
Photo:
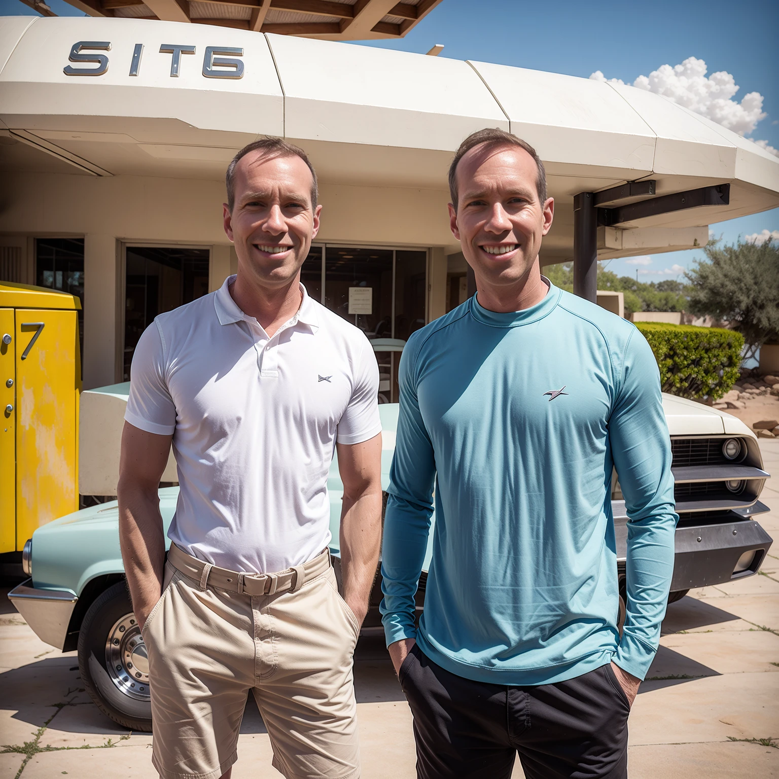
[(360, 495), (344, 495), (340, 521), (341, 577), (344, 601), (361, 622), (379, 562), (382, 532), (381, 485), (370, 485)]

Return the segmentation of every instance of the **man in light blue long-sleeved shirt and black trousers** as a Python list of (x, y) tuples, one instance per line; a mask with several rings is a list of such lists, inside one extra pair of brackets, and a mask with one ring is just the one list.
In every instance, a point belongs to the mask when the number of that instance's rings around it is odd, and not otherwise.
[[(476, 133), (449, 183), (478, 294), (404, 350), (382, 562), (418, 775), (508, 777), (518, 751), (528, 777), (626, 776), (678, 519), (657, 364), (631, 323), (541, 277), (554, 203), (532, 148)], [(612, 467), (629, 515), (622, 637)]]

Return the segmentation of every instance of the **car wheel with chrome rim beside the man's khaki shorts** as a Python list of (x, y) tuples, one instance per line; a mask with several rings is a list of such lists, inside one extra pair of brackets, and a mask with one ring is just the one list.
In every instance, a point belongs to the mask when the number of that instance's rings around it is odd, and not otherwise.
[(103, 714), (124, 728), (151, 731), (149, 661), (125, 582), (108, 587), (84, 615), (79, 670)]

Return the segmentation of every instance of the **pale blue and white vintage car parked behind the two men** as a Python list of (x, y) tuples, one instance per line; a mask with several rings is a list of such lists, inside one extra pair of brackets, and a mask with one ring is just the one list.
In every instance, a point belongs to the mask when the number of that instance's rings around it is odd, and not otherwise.
[[(116, 396), (115, 388), (104, 390)], [(379, 411), (383, 428), (382, 487), (386, 489), (398, 406), (382, 404)], [(763, 471), (755, 435), (738, 419), (669, 395), (664, 396), (664, 411), (671, 432), (680, 516), (669, 598), (672, 602), (690, 587), (757, 572), (771, 538), (753, 517), (768, 510), (758, 498), (769, 474)], [(622, 616), (627, 516), (616, 474), (612, 485)], [(330, 549), (340, 576), (338, 538), (343, 485), (336, 461), (330, 468), (328, 488), (333, 534)], [(166, 529), (177, 496), (178, 487), (160, 489), (160, 511)], [(419, 581), (418, 612), (424, 605), (434, 530), (435, 516)], [(104, 714), (126, 728), (150, 731), (149, 666), (125, 584), (116, 502), (91, 506), (36, 530), (24, 548), (23, 566), (30, 579), (12, 590), (9, 597), (26, 622), (45, 642), (63, 651), (78, 650), (81, 678)], [(380, 581), (377, 576), (363, 634), (382, 631)]]

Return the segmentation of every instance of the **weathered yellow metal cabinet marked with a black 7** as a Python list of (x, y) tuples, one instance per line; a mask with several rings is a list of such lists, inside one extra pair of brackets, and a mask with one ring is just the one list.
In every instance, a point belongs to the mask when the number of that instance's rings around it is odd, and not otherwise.
[(0, 553), (79, 508), (79, 308), (0, 282)]

